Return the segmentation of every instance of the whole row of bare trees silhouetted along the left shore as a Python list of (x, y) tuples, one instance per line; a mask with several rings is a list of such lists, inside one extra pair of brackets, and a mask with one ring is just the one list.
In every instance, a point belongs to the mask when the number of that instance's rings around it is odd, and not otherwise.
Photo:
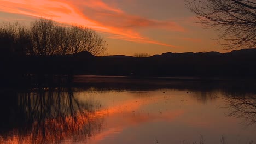
[(18, 22), (0, 26), (1, 56), (66, 55), (81, 51), (99, 55), (106, 49), (103, 38), (83, 26), (65, 26), (49, 19), (38, 19), (28, 26)]

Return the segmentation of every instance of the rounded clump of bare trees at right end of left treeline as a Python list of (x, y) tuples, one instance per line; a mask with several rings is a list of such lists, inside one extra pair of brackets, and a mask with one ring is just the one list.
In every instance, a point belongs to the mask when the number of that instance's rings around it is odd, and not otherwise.
[(92, 29), (73, 25), (61, 26), (49, 19), (39, 19), (31, 24), (36, 55), (63, 55), (88, 51), (99, 55), (106, 51), (106, 41)]

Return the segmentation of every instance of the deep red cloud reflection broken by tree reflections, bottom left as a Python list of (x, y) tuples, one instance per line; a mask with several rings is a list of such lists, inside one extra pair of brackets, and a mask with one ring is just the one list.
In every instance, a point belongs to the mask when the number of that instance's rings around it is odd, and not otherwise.
[[(60, 143), (61, 141), (86, 142), (92, 134), (102, 129), (102, 117), (94, 113), (83, 112), (66, 118), (46, 119), (34, 122), (31, 131), (14, 129), (11, 137), (0, 136), (0, 143)], [(88, 129), (90, 127), (90, 129)]]

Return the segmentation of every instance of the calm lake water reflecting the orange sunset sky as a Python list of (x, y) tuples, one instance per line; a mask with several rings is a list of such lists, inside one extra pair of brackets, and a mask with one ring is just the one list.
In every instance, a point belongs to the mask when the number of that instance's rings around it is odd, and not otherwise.
[[(0, 143), (252, 143), (254, 88), (225, 82), (76, 77), (5, 90)], [(224, 142), (223, 142), (224, 141)]]

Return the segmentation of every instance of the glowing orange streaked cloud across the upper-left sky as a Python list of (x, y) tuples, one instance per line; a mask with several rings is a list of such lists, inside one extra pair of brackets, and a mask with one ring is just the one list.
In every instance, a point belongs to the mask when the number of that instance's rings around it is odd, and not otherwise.
[(109, 38), (168, 47), (176, 46), (143, 37), (137, 32), (138, 29), (160, 28), (167, 31), (184, 31), (183, 27), (176, 22), (129, 15), (101, 0), (17, 0), (15, 2), (8, 0), (1, 2), (0, 11), (36, 17), (50, 17), (62, 23), (79, 23), (110, 34)]

